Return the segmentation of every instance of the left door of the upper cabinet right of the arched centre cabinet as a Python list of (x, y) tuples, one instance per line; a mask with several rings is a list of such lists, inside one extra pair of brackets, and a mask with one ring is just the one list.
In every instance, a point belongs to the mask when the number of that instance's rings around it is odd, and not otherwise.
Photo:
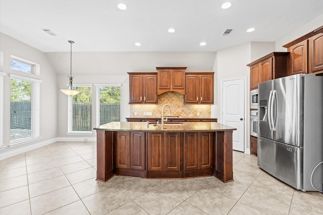
[(185, 103), (197, 104), (199, 102), (200, 82), (198, 75), (185, 75)]

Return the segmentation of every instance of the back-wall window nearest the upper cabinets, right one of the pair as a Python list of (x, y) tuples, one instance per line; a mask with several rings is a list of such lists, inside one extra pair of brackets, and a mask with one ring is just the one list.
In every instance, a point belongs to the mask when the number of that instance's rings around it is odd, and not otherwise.
[(97, 86), (98, 126), (120, 121), (120, 86), (121, 84)]

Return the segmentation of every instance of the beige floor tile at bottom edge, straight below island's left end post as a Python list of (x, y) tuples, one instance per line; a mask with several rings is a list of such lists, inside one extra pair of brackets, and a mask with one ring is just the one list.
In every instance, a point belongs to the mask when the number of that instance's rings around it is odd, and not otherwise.
[(91, 214), (105, 214), (131, 201), (117, 187), (110, 187), (82, 199)]

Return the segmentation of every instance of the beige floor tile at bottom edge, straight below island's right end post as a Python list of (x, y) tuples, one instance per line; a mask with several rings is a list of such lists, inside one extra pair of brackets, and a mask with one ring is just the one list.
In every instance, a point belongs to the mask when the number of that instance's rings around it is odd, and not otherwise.
[(236, 203), (235, 200), (207, 188), (202, 188), (186, 201), (209, 214), (227, 214)]

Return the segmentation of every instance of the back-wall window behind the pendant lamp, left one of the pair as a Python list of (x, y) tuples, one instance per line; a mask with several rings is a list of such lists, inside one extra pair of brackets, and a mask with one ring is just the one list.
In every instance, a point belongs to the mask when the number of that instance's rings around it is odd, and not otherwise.
[(89, 133), (92, 131), (92, 86), (74, 85), (81, 91), (69, 96), (69, 129), (70, 133)]

